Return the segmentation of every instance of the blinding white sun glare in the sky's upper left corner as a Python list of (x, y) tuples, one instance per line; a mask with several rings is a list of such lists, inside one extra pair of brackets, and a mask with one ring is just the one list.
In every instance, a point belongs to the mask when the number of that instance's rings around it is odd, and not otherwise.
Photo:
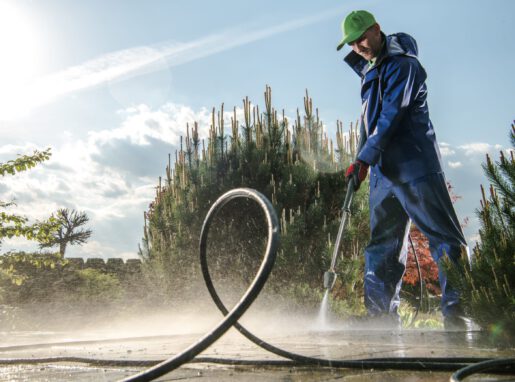
[(15, 3), (0, 2), (0, 118), (14, 111), (13, 100), (36, 74), (36, 40), (28, 15)]

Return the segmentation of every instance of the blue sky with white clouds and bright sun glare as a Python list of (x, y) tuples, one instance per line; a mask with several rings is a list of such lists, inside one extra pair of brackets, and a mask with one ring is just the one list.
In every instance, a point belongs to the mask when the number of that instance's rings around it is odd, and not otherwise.
[[(0, 178), (30, 221), (85, 211), (93, 235), (67, 256), (137, 256), (143, 211), (186, 124), (201, 135), (246, 96), (287, 116), (306, 89), (330, 137), (359, 118), (360, 80), (337, 52), (340, 23), (372, 12), (418, 42), (428, 103), (465, 235), (478, 238), (481, 163), (509, 150), (515, 119), (512, 0), (0, 0), (0, 162), (52, 158)], [(227, 116), (227, 120), (230, 116)], [(31, 250), (5, 240), (0, 253)]]

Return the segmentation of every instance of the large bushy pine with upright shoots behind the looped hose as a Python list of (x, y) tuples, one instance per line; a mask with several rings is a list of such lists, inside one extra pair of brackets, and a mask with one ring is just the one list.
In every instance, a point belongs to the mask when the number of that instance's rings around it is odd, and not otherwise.
[[(198, 272), (198, 237), (211, 204), (225, 191), (251, 187), (273, 203), (281, 221), (281, 247), (269, 282), (274, 293), (304, 299), (305, 288), (322, 289), (332, 246), (339, 226), (346, 182), (342, 171), (354, 156), (357, 133), (348, 137), (338, 123), (336, 145), (327, 138), (324, 125), (313, 113), (306, 93), (305, 115), (279, 119), (272, 107), (271, 90), (265, 91), (265, 110), (243, 100), (244, 123), (236, 110), (227, 135), (221, 111), (213, 109), (207, 145), (198, 137), (198, 126), (187, 127), (186, 138), (169, 156), (166, 180), (145, 213), (140, 255), (146, 274), (163, 295), (194, 294)], [(368, 187), (355, 196), (353, 216), (344, 235), (337, 265), (339, 283), (334, 296), (353, 298), (362, 304), (363, 257), (368, 240)], [(210, 231), (210, 266), (219, 279), (247, 283), (259, 262), (266, 226), (252, 203), (231, 202), (219, 214)], [(292, 285), (300, 287), (292, 288)], [(360, 309), (356, 306), (356, 309)]]

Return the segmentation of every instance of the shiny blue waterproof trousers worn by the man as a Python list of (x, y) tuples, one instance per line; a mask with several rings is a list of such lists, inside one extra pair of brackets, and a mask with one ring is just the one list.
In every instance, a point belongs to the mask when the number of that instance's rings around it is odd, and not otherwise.
[(370, 243), (365, 249), (365, 306), (370, 315), (395, 314), (406, 268), (410, 221), (429, 239), (438, 264), (442, 312), (457, 311), (458, 293), (448, 285), (444, 254), (455, 263), (466, 247), (443, 173), (394, 184), (372, 171), (370, 179)]

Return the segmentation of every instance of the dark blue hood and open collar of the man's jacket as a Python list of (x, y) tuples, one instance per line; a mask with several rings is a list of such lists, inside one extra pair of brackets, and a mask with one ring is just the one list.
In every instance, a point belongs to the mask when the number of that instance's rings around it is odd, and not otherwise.
[[(381, 34), (386, 40), (386, 43), (384, 44), (383, 50), (379, 54), (374, 67), (380, 65), (386, 57), (400, 55), (410, 57), (418, 56), (417, 42), (409, 34), (395, 33), (389, 36), (385, 36), (382, 32)], [(354, 51), (351, 51), (347, 56), (345, 56), (344, 61), (361, 77), (363, 77), (369, 70), (368, 61)]]

